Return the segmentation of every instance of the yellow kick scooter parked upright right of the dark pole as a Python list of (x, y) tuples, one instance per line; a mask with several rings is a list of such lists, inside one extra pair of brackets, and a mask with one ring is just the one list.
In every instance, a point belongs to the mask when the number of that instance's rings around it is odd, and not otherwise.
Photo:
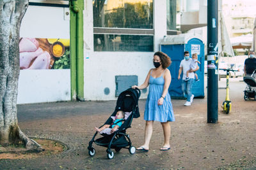
[(229, 72), (230, 71), (237, 71), (237, 70), (229, 69), (229, 68), (228, 69), (221, 69), (221, 70), (227, 71), (226, 99), (222, 103), (221, 108), (223, 108), (223, 111), (228, 114), (231, 111), (231, 101), (230, 101), (230, 98), (229, 98), (229, 75), (230, 75)]

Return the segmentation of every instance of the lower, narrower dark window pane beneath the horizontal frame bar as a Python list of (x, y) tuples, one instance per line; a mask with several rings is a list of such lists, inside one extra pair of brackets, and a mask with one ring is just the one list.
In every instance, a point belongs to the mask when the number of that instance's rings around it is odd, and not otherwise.
[(154, 36), (94, 34), (94, 51), (153, 52)]

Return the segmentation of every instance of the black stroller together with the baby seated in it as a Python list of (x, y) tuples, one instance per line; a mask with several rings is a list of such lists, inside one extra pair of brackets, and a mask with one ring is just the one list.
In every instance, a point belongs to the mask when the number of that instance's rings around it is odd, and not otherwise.
[[(96, 132), (88, 146), (88, 153), (91, 157), (95, 155), (93, 143), (107, 148), (108, 159), (113, 159), (114, 157), (112, 148), (116, 152), (119, 152), (122, 148), (128, 149), (131, 154), (136, 152), (129, 134), (126, 134), (126, 129), (131, 127), (133, 118), (140, 117), (138, 107), (140, 94), (139, 89), (129, 88), (118, 96), (115, 111), (111, 114), (111, 117), (101, 127), (95, 127)], [(113, 125), (115, 126), (113, 127)], [(98, 133), (103, 137), (95, 139)]]

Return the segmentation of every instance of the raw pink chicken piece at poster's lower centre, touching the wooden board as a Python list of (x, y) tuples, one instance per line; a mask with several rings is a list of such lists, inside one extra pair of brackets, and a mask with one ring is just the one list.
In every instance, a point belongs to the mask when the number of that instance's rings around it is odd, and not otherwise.
[(35, 61), (28, 69), (49, 69), (50, 62), (51, 55), (49, 52), (45, 51), (36, 57)]

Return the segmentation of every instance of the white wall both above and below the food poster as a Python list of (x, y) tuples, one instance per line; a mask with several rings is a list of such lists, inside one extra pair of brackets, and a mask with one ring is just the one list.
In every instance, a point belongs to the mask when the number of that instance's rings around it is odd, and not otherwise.
[[(69, 20), (64, 10), (29, 6), (22, 20), (20, 37), (69, 39)], [(67, 17), (66, 17), (67, 18)], [(70, 100), (70, 69), (20, 70), (18, 104)]]

